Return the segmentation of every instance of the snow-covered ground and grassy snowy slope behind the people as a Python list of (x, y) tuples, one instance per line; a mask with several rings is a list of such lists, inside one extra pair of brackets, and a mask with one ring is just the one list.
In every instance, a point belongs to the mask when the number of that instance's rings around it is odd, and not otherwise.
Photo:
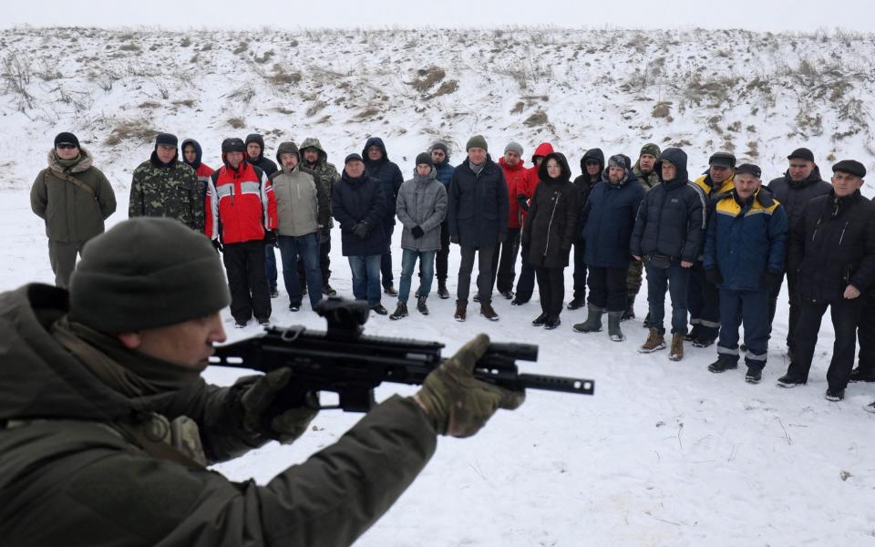
[[(183, 46), (189, 37), (190, 44)], [(417, 39), (427, 47), (417, 47)], [(232, 53), (232, 46), (239, 49), (242, 41), (248, 41), (247, 48)], [(27, 52), (22, 58), (35, 75), (26, 89), (36, 98), (33, 107), (19, 108), (16, 101), (22, 96), (11, 91), (5, 80), (0, 146), (14, 153), (0, 160), (5, 171), (0, 181), (0, 231), (6, 242), (0, 289), (53, 279), (42, 224), (29, 210), (27, 190), (44, 167), (45, 150), (57, 131), (79, 133), (95, 152), (98, 166), (108, 173), (119, 201), (119, 211), (110, 223), (127, 216), (130, 172), (148, 157), (151, 146), (148, 138), (108, 144), (109, 131), (126, 119), (146, 119), (149, 127), (176, 131), (180, 138), (199, 138), (207, 150), (204, 160), (212, 165), (217, 163), (223, 137), (259, 129), (268, 134), (271, 155), (280, 139), (300, 142), (314, 135), (323, 139), (336, 163), (341, 163), (345, 153), (360, 150), (367, 135), (382, 135), (390, 158), (405, 173), (412, 170), (417, 151), (435, 137), (446, 137), (458, 148), (475, 132), (487, 135), (493, 157), (511, 139), (523, 142), (526, 156), (540, 140), (551, 140), (573, 159), (582, 150), (599, 145), (608, 153), (635, 155), (644, 139), (663, 143), (664, 136), (669, 136), (669, 142), (689, 142), (685, 146), (691, 156), (691, 173), (704, 168), (711, 151), (733, 140), (739, 157), (759, 161), (770, 176), (785, 169), (783, 156), (788, 150), (806, 142), (812, 143), (825, 171), (829, 171), (828, 154), (856, 157), (872, 166), (868, 126), (854, 121), (870, 121), (871, 86), (865, 84), (871, 73), (859, 80), (845, 80), (830, 72), (830, 67), (839, 65), (850, 70), (868, 66), (867, 59), (875, 57), (875, 41), (869, 35), (736, 32), (720, 42), (723, 46), (716, 46), (696, 31), (636, 31), (619, 42), (602, 34), (549, 29), (515, 36), (491, 31), (374, 35), (302, 31), (273, 36), (265, 31), (224, 33), (214, 42), (215, 48), (205, 50), (204, 36), (193, 33), (0, 31), (0, 44), (10, 54)], [(129, 44), (139, 49), (119, 50)], [(201, 57), (190, 62), (196, 49)], [(250, 102), (229, 98), (248, 85), (246, 78), (253, 77), (253, 69), (262, 67), (246, 56), (262, 58), (269, 49), (275, 50), (274, 60), (288, 62), (287, 72), (300, 67), (304, 79), (288, 85), (254, 81)], [(494, 70), (479, 74), (475, 59), (487, 62), (486, 56), (492, 56)], [(652, 83), (624, 89), (623, 82), (632, 77), (634, 68), (643, 67), (642, 58), (654, 56), (665, 60), (659, 65), (662, 71), (651, 75)], [(553, 68), (538, 72), (531, 68), (532, 58), (547, 58)], [(591, 62), (593, 67), (588, 67)], [(707, 83), (714, 76), (710, 69), (705, 74), (703, 67), (714, 62), (726, 63), (732, 67), (728, 74), (739, 78), (732, 84), (728, 102), (722, 96), (715, 98), (713, 88), (702, 88), (705, 100), (701, 105), (692, 98), (668, 97), (674, 91), (666, 81), (686, 74), (684, 82), (698, 78)], [(272, 64), (273, 60), (264, 67), (275, 76)], [(446, 67), (445, 79), (457, 79), (465, 94), (450, 92), (424, 102), (423, 95), (411, 91), (407, 82), (415, 76), (414, 67), (430, 64)], [(513, 72), (517, 67), (522, 72)], [(782, 72), (781, 67), (786, 70)], [(233, 77), (238, 68), (241, 77)], [(696, 71), (704, 76), (691, 76)], [(763, 95), (763, 88), (747, 87), (751, 78), (739, 76), (745, 71), (770, 78), (772, 91)], [(609, 80), (602, 78), (605, 72), (612, 72)], [(373, 76), (370, 82), (382, 78), (385, 85), (368, 83), (359, 73)], [(113, 75), (118, 79), (112, 80)], [(847, 86), (846, 92), (830, 95), (830, 83)], [(817, 86), (822, 87), (819, 98)], [(162, 89), (169, 98), (163, 98)], [(383, 95), (391, 100), (383, 100)], [(541, 98), (546, 96), (549, 100)], [(77, 97), (84, 102), (73, 100)], [(340, 97), (354, 102), (355, 108), (335, 102)], [(665, 100), (674, 101), (672, 119), (653, 118), (651, 111)], [(362, 116), (369, 101), (386, 107)], [(314, 114), (304, 112), (320, 102), (325, 104)], [(512, 111), (518, 102), (523, 103), (522, 111)], [(416, 110), (419, 104), (428, 108)], [(800, 106), (805, 104), (808, 110)], [(760, 108), (755, 110), (757, 105)], [(550, 123), (523, 125), (540, 108), (550, 122), (555, 120), (552, 127)], [(822, 119), (800, 121), (803, 111), (822, 113)], [(712, 122), (717, 115), (722, 118)], [(245, 125), (232, 129), (226, 123), (232, 116), (244, 118)], [(578, 119), (584, 121), (578, 123)], [(736, 121), (741, 129), (727, 129)], [(840, 135), (851, 127), (860, 130)], [(748, 150), (743, 149), (746, 141)], [(758, 148), (750, 147), (750, 142)], [(461, 154), (456, 154), (455, 160), (460, 159)], [(572, 165), (576, 163), (572, 160)], [(866, 188), (864, 193), (871, 195)], [(336, 233), (335, 241), (339, 242)], [(396, 232), (396, 251), (399, 242)], [(339, 244), (333, 250), (332, 265), (332, 283), (340, 294), (350, 295), (348, 266)], [(450, 271), (457, 269), (458, 252), (454, 251)], [(569, 295), (570, 270), (566, 277)], [(451, 274), (451, 292), (454, 289), (455, 275)], [(288, 312), (284, 291), (273, 302), (275, 324), (324, 328), (307, 304), (302, 312)], [(808, 386), (776, 387), (775, 380), (786, 366), (782, 344), (787, 330), (786, 297), (781, 303), (764, 380), (758, 386), (744, 382), (744, 367), (723, 375), (707, 372), (705, 367), (715, 359), (713, 347), (687, 347), (687, 356), (679, 363), (668, 361), (666, 352), (637, 354), (635, 349), (645, 337), (640, 319), (623, 324), (629, 339), (622, 344), (609, 341), (606, 333), (573, 333), (571, 325), (585, 316), (582, 310), (564, 312), (562, 325), (555, 331), (532, 327), (529, 322), (540, 311), (537, 294), (520, 308), (499, 297), (495, 301), (501, 315), (498, 323), (471, 314), (467, 323), (458, 324), (452, 319), (453, 300), (434, 297), (429, 300), (432, 315), (427, 317), (415, 311), (400, 323), (372, 317), (366, 325), (368, 334), (438, 340), (447, 345), (448, 355), (477, 332), (486, 332), (494, 340), (538, 344), (539, 362), (522, 363), (521, 368), (593, 378), (596, 394), (581, 397), (532, 391), (522, 408), (499, 412), (476, 437), (441, 439), (424, 473), (357, 544), (875, 543), (871, 503), (875, 439), (866, 433), (875, 416), (861, 408), (875, 397), (875, 387), (851, 385), (846, 400), (838, 404), (823, 398), (833, 341), (829, 325), (824, 325), (818, 340)], [(391, 310), (395, 301), (386, 297), (384, 304)], [(644, 294), (640, 294), (636, 304), (640, 317), (645, 307)], [(225, 319), (231, 327), (230, 315)], [(242, 332), (231, 329), (229, 334), (236, 338), (256, 332), (250, 326)], [(239, 373), (211, 369), (207, 377), (224, 384)], [(412, 391), (381, 387), (377, 398)], [(293, 446), (272, 444), (218, 470), (233, 480), (253, 477), (266, 482), (331, 444), (358, 418), (323, 412), (314, 420), (314, 429)]]

